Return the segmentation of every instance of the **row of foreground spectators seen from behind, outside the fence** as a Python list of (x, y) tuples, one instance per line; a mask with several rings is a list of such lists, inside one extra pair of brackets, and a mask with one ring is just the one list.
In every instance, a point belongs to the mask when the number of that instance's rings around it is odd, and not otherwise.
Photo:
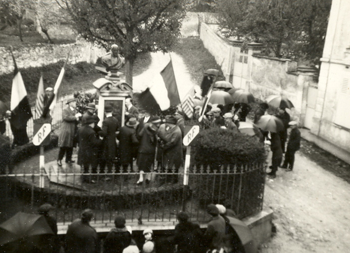
[(209, 204), (206, 207), (209, 218), (206, 229), (191, 222), (187, 213), (179, 212), (173, 235), (155, 235), (151, 228), (146, 228), (142, 231), (142, 237), (139, 233), (133, 235), (132, 227), (127, 226), (122, 215), (115, 217), (114, 228), (106, 235), (98, 235), (90, 225), (94, 217), (93, 211), (84, 209), (80, 218), (74, 220), (68, 226), (66, 234), (59, 239), (57, 222), (49, 215), (52, 209), (54, 207), (51, 204), (43, 204), (38, 209), (38, 214), (44, 216), (53, 232), (42, 237), (46, 240), (47, 252), (51, 253), (244, 252), (228, 218), (235, 214), (221, 204)]

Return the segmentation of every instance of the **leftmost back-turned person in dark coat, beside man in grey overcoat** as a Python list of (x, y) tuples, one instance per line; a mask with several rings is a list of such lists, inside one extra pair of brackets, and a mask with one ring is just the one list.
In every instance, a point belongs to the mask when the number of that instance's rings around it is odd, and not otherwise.
[[(91, 173), (97, 173), (98, 166), (98, 149), (102, 146), (102, 141), (98, 138), (93, 130), (95, 119), (93, 116), (85, 118), (84, 125), (78, 130), (78, 163), (83, 167), (84, 173), (89, 173), (89, 166), (91, 165)], [(83, 175), (82, 178), (85, 183), (94, 183), (94, 179), (89, 175)]]

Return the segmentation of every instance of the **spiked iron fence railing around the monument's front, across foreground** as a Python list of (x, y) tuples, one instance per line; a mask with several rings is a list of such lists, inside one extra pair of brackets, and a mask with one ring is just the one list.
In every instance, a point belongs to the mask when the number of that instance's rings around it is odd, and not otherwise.
[[(144, 180), (136, 185), (139, 175), (130, 169), (126, 173), (84, 174), (67, 173), (68, 167), (48, 173), (30, 173), (23, 168), (23, 172), (0, 175), (0, 218), (19, 211), (33, 212), (43, 203), (56, 207), (56, 218), (63, 224), (79, 218), (84, 208), (93, 209), (95, 221), (102, 223), (113, 221), (116, 214), (139, 223), (170, 221), (181, 210), (194, 220), (205, 221), (209, 203), (223, 204), (244, 218), (262, 210), (265, 170), (265, 164), (223, 165), (220, 171), (192, 166), (187, 172), (188, 185), (183, 184), (183, 168), (178, 172), (152, 171), (150, 183)], [(83, 177), (95, 183), (82, 183)], [(40, 178), (43, 188), (39, 187)]]

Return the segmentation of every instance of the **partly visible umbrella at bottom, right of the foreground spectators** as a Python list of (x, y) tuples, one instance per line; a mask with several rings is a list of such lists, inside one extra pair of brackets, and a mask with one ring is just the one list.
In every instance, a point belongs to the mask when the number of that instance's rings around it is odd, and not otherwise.
[(251, 230), (248, 228), (248, 226), (233, 217), (227, 216), (228, 220), (230, 221), (231, 227), (234, 229), (234, 231), (237, 233), (242, 246), (244, 248), (245, 253), (256, 253), (258, 251), (257, 243), (253, 238), (253, 234)]

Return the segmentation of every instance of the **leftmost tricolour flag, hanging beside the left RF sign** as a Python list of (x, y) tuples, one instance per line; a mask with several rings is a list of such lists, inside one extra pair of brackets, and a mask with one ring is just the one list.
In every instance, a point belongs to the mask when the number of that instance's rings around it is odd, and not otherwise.
[(27, 91), (24, 86), (21, 72), (17, 68), (15, 57), (12, 55), (15, 65), (14, 78), (11, 91), (11, 119), (10, 122), (16, 129), (25, 128), (27, 121), (32, 117)]

